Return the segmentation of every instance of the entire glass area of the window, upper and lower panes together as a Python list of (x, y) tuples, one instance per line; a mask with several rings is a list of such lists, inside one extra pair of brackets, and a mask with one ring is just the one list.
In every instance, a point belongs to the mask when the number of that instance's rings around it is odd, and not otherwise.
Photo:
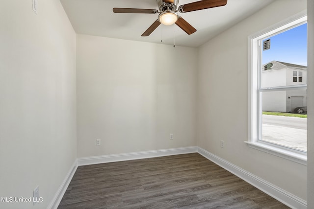
[[(258, 138), (307, 151), (307, 23), (274, 34), (259, 40), (268, 40), (269, 46), (259, 51)], [(293, 90), (287, 90), (291, 86)]]

